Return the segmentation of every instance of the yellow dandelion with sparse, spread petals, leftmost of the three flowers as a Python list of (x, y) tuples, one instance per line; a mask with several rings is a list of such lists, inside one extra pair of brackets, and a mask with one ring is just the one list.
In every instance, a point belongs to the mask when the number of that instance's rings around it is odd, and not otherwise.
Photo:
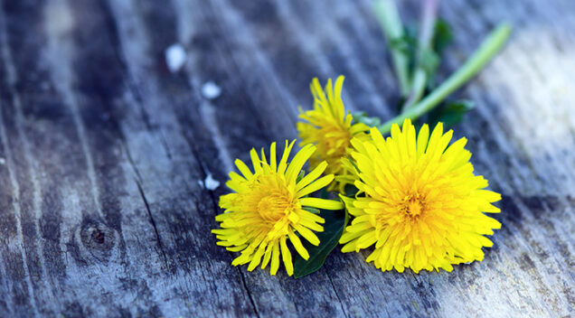
[(276, 143), (270, 146), (269, 162), (263, 149), (261, 157), (255, 149), (251, 149), (253, 172), (240, 159), (235, 162), (242, 175), (230, 173), (230, 181), (226, 185), (234, 192), (222, 195), (220, 207), (225, 211), (216, 216), (216, 221), (221, 222), (221, 229), (212, 229), (219, 239), (218, 245), (241, 252), (231, 263), (233, 266), (250, 263), (248, 270), (251, 271), (260, 263), (261, 268), (265, 268), (271, 261), (270, 274), (276, 275), (281, 254), (287, 274), (291, 276), (294, 267), (287, 239), (297, 253), (307, 259), (309, 254), (299, 237), (317, 246), (319, 239), (313, 231), (324, 230), (320, 225), (324, 219), (307, 211), (306, 207), (325, 210), (344, 208), (340, 201), (307, 197), (309, 193), (332, 182), (334, 175), (319, 178), (327, 166), (321, 163), (312, 172), (298, 178), (316, 147), (303, 147), (287, 164), (294, 143), (295, 140), (291, 143), (286, 141), (279, 163), (276, 163)]

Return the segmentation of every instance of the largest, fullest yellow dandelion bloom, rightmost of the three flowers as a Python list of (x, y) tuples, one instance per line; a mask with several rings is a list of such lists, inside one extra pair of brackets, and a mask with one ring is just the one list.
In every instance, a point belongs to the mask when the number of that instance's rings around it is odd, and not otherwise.
[(484, 235), (501, 228), (483, 212), (499, 212), (491, 203), (501, 195), (485, 190), (487, 181), (474, 175), (466, 138), (448, 146), (452, 134), (443, 134), (439, 123), (431, 136), (424, 125), (416, 138), (406, 119), (385, 140), (375, 128), (371, 140), (353, 140), (355, 186), (365, 196), (344, 198), (354, 219), (340, 239), (343, 252), (374, 244), (367, 262), (382, 271), (416, 273), (483, 259), (481, 248), (493, 245)]

